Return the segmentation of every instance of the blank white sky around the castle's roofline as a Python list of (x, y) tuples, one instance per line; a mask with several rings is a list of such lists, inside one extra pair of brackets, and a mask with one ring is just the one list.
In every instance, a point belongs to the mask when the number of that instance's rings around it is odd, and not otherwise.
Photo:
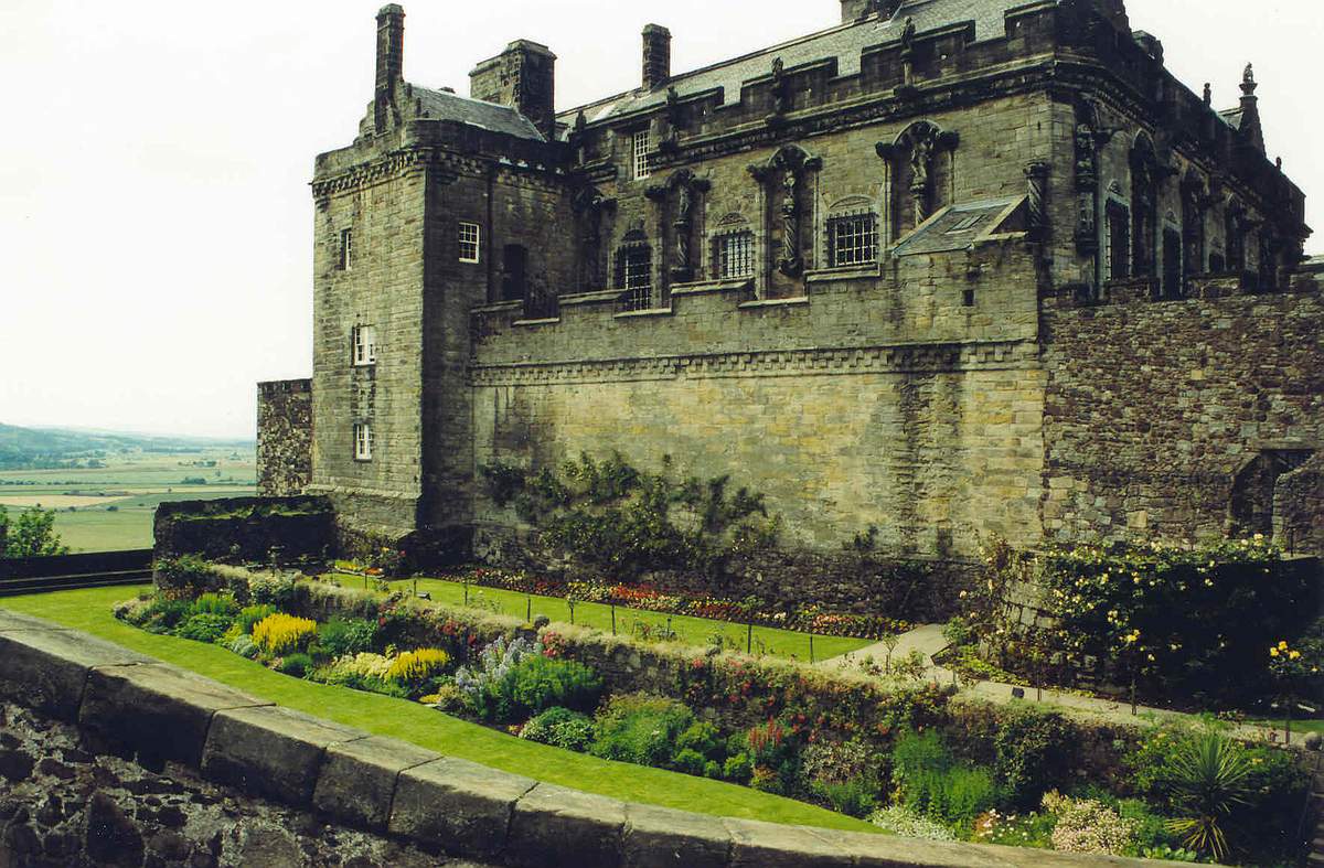
[[(373, 0), (0, 0), (0, 422), (254, 433), (258, 380), (311, 370), (312, 157), (372, 98)], [(837, 0), (405, 3), (405, 77), (467, 94), (526, 37), (557, 106), (831, 26)], [(1255, 62), (1270, 156), (1324, 249), (1319, 0), (1129, 0), (1196, 93)]]

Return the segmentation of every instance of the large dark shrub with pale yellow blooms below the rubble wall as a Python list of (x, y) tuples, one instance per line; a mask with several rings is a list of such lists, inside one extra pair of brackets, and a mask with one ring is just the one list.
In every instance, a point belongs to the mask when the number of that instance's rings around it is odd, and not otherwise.
[[(1197, 697), (1205, 705), (1262, 696), (1270, 681), (1264, 648), (1299, 635), (1317, 610), (1309, 570), (1284, 561), (1260, 536), (1190, 548), (1004, 549), (989, 550), (988, 580), (965, 601), (985, 646), (1016, 650), (998, 605), (1008, 587), (1034, 584), (1039, 607), (1057, 622), (1031, 638), (1035, 644), (1108, 662), (1120, 670), (1117, 680), (1135, 680), (1144, 693)], [(1023, 655), (1018, 664), (1034, 668)]]

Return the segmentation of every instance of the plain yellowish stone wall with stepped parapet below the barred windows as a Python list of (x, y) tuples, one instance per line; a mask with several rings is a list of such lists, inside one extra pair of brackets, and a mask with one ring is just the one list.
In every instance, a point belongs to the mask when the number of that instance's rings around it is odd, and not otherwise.
[[(565, 299), (555, 323), (474, 315), (475, 462), (555, 466), (621, 453), (642, 468), (763, 492), (782, 544), (841, 550), (870, 524), (894, 554), (969, 556), (977, 532), (1038, 541), (1043, 381), (1034, 262), (992, 245), (997, 281), (963, 307), (969, 259), (915, 257), (894, 281), (813, 284), (741, 303), (739, 286), (678, 290), (659, 314)], [(572, 303), (573, 302), (573, 303)], [(924, 307), (928, 341), (907, 341)], [(514, 513), (478, 491), (479, 528)]]

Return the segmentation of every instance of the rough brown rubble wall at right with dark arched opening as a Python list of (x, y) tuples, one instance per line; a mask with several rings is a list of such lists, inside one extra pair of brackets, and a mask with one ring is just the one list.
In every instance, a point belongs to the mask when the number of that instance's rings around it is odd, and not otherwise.
[[(1275, 505), (1275, 483), (1290, 482), (1278, 474), (1324, 443), (1324, 300), (1313, 278), (1274, 295), (1226, 294), (1219, 281), (1194, 291), (1151, 302), (1140, 286), (1102, 306), (1046, 303), (1047, 537), (1267, 535), (1279, 509), (1294, 527), (1321, 523), (1305, 476), (1303, 499), (1284, 488)], [(1311, 533), (1291, 542), (1324, 552)]]

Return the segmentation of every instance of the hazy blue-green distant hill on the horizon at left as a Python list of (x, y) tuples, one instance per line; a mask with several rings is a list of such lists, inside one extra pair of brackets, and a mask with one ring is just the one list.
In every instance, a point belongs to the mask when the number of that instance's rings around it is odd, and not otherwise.
[(208, 447), (252, 449), (253, 441), (0, 423), (0, 470), (75, 467), (122, 453), (196, 453)]

